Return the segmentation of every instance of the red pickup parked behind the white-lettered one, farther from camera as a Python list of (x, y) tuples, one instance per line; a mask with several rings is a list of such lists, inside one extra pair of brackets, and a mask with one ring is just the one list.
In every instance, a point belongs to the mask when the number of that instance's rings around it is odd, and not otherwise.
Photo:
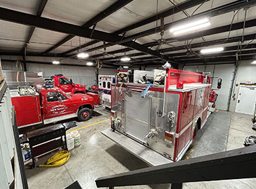
[(63, 76), (63, 74), (56, 74), (55, 76), (51, 76), (51, 78), (55, 82), (55, 87), (60, 88), (66, 93), (71, 93), (71, 94), (86, 93), (86, 89), (84, 85), (74, 84), (71, 79), (68, 80), (66, 77)]

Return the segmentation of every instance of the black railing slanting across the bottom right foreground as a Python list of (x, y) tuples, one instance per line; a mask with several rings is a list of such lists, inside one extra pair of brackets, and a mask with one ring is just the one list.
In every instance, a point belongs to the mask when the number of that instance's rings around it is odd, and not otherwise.
[(98, 188), (114, 188), (114, 186), (172, 184), (172, 189), (182, 188), (184, 182), (255, 178), (255, 164), (256, 145), (104, 176), (96, 180), (96, 185)]

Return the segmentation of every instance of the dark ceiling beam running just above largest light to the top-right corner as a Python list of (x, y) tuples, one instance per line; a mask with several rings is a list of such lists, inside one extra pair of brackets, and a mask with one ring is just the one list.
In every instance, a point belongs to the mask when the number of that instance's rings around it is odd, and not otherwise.
[[(213, 9), (210, 9), (210, 10), (207, 10), (207, 11), (203, 11), (202, 13), (198, 13), (198, 14), (194, 15), (193, 18), (205, 17), (205, 16), (209, 16), (209, 15), (211, 15), (211, 17), (215, 17), (215, 16), (218, 16), (218, 15), (223, 15), (225, 13), (229, 13), (231, 11), (235, 11), (237, 9), (243, 9), (245, 7), (251, 7), (251, 6), (255, 6), (255, 5), (256, 5), (256, 0), (249, 0), (249, 1), (247, 1), (247, 0), (238, 0), (238, 1), (235, 1), (235, 2), (227, 3), (225, 5), (221, 5), (220, 7), (215, 7)], [(184, 21), (188, 21), (190, 19), (192, 19), (192, 18), (189, 17), (189, 18), (186, 18), (186, 19), (181, 19), (179, 21), (168, 23), (168, 24), (164, 25), (164, 28), (168, 29), (169, 27), (171, 27), (174, 24), (179, 24), (179, 23), (182, 23)], [(161, 28), (160, 27), (156, 27), (156, 28), (153, 28), (153, 29), (149, 29), (147, 31), (143, 31), (143, 32), (138, 32), (136, 34), (132, 34), (131, 36), (127, 36), (123, 40), (120, 40), (120, 41), (112, 43), (112, 44), (109, 43), (109, 44), (106, 44), (104, 46), (103, 45), (102, 46), (98, 46), (98, 48), (95, 48), (95, 49), (98, 50), (100, 48), (112, 46), (114, 44), (122, 44), (123, 42), (127, 42), (129, 40), (134, 40), (136, 38), (141, 38), (143, 36), (148, 36), (150, 34), (155, 34), (156, 32), (160, 32), (160, 31), (161, 31)]]

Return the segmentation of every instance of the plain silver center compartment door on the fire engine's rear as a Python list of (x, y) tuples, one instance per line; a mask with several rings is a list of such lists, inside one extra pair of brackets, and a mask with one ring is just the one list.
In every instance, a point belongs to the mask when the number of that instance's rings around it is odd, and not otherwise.
[(132, 97), (126, 95), (125, 108), (125, 132), (144, 143), (149, 131), (150, 97), (142, 98), (137, 93), (132, 93)]

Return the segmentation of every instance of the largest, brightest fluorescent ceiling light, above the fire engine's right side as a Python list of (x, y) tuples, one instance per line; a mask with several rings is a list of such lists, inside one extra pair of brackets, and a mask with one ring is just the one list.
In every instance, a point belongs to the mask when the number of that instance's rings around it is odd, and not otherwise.
[(182, 34), (184, 32), (195, 31), (196, 29), (208, 27), (209, 25), (211, 25), (209, 19), (204, 18), (200, 19), (199, 21), (193, 21), (185, 25), (180, 25), (178, 27), (172, 27), (170, 32), (174, 34)]

